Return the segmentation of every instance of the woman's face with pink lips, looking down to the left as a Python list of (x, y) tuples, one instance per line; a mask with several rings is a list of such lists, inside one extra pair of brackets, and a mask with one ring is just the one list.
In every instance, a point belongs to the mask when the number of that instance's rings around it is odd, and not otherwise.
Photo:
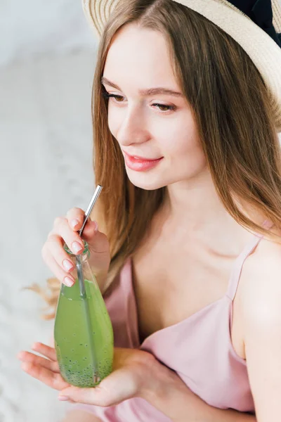
[(203, 172), (206, 159), (195, 120), (160, 32), (136, 24), (119, 30), (107, 55), (103, 85), (110, 94), (110, 132), (135, 186), (157, 189)]

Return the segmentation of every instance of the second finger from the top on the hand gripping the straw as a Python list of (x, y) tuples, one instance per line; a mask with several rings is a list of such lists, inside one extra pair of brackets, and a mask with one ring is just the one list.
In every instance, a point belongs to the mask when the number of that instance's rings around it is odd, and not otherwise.
[(53, 234), (63, 238), (63, 240), (67, 244), (67, 247), (74, 255), (78, 255), (83, 252), (83, 241), (77, 231), (73, 231), (73, 229), (70, 227), (70, 224), (68, 224), (68, 220), (66, 218), (57, 217), (55, 219), (55, 222), (53, 224), (53, 230), (48, 235), (48, 239), (53, 236)]

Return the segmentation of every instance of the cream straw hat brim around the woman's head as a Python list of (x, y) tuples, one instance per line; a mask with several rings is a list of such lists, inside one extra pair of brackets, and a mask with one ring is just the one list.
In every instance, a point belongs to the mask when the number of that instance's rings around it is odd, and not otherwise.
[[(100, 36), (120, 1), (82, 0), (84, 13)], [(174, 0), (221, 27), (247, 52), (268, 87), (275, 126), (281, 132), (281, 6), (278, 0)], [(281, 0), (280, 0), (281, 1)], [(238, 6), (239, 4), (239, 6)], [(241, 6), (242, 4), (242, 6)]]

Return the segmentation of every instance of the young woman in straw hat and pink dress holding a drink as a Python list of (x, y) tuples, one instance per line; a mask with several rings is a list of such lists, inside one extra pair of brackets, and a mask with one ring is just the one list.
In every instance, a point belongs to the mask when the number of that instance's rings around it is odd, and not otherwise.
[[(52, 347), (20, 353), (22, 369), (80, 403), (65, 421), (280, 418), (281, 13), (275, 1), (232, 3), (84, 5), (102, 32), (93, 129), (104, 187), (99, 229), (88, 222), (84, 238), (114, 371), (79, 389)], [(83, 217), (55, 219), (43, 248), (67, 286), (63, 244), (81, 252)]]

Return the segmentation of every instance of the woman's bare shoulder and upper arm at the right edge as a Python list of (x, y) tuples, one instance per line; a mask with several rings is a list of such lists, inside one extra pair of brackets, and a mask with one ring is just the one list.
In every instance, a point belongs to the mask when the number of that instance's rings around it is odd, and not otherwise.
[(247, 361), (256, 416), (259, 421), (275, 421), (281, 412), (279, 240), (262, 239), (248, 258), (242, 269), (244, 274), (241, 312), (244, 356)]

